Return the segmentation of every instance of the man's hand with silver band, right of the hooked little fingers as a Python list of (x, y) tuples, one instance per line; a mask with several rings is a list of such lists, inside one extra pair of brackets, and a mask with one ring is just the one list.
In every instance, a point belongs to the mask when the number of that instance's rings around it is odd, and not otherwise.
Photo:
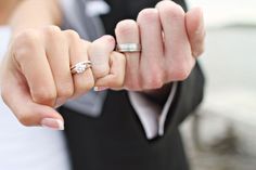
[(161, 1), (155, 9), (142, 10), (136, 21), (116, 26), (117, 43), (141, 43), (141, 53), (125, 53), (124, 87), (135, 91), (158, 91), (172, 81), (188, 78), (195, 60), (204, 51), (203, 12), (184, 13), (172, 1)]

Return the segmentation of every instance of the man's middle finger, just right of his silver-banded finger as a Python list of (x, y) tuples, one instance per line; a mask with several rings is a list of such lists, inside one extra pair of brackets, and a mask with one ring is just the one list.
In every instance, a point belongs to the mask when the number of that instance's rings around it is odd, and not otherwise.
[(161, 87), (163, 81), (163, 36), (158, 11), (156, 9), (142, 10), (138, 15), (141, 35), (140, 73), (143, 89)]

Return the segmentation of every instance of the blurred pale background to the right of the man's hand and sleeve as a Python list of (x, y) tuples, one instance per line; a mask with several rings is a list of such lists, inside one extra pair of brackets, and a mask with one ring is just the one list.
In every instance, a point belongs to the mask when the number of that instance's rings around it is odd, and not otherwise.
[(256, 1), (188, 2), (207, 27), (205, 99), (181, 127), (192, 170), (255, 170)]

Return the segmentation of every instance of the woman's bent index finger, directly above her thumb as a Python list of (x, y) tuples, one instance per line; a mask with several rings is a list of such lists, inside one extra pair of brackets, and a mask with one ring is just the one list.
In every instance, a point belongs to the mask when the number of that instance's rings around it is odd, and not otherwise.
[(20, 36), (12, 47), (10, 57), (16, 61), (26, 79), (31, 99), (36, 103), (54, 106), (55, 83), (40, 40), (40, 37), (31, 31)]

